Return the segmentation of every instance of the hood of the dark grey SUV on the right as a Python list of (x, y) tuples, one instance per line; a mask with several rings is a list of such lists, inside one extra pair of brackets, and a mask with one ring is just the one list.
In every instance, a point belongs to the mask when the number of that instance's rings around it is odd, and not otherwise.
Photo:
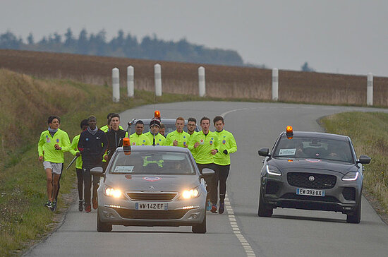
[[(290, 162), (289, 160), (292, 160)], [(285, 159), (285, 158), (271, 158), (267, 160), (267, 164), (277, 167), (282, 171), (298, 171), (298, 170), (327, 170), (332, 172), (339, 172), (346, 174), (348, 172), (357, 170), (358, 168), (354, 164), (345, 162), (336, 162), (329, 160), (318, 159)]]

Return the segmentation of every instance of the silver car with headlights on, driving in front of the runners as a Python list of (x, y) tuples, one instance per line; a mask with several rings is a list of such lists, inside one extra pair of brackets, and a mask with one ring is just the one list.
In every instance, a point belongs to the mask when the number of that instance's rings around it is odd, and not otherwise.
[(192, 226), (206, 232), (205, 176), (187, 148), (135, 145), (117, 148), (107, 170), (92, 169), (102, 177), (98, 189), (97, 231), (112, 225)]

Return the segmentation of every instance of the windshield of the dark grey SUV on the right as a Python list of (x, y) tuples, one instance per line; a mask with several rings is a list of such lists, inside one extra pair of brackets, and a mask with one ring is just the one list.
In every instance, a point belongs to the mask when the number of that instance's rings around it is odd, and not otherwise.
[(272, 153), (272, 157), (311, 158), (353, 163), (351, 145), (347, 141), (283, 136)]

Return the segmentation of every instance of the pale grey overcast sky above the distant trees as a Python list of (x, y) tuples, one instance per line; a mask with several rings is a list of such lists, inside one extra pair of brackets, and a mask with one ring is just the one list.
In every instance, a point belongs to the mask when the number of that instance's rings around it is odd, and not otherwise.
[(1, 0), (0, 33), (35, 41), (71, 28), (107, 40), (119, 29), (234, 49), (245, 62), (388, 77), (388, 1), (358, 0)]

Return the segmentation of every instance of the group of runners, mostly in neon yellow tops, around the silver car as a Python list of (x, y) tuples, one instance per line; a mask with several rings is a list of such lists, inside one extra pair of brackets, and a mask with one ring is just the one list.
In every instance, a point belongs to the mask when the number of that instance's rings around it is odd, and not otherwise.
[[(128, 132), (120, 126), (119, 114), (107, 115), (107, 125), (97, 128), (97, 119), (90, 116), (80, 122), (82, 132), (70, 143), (68, 134), (59, 128), (59, 116), (49, 116), (49, 128), (43, 131), (38, 143), (39, 160), (43, 161), (47, 175), (47, 197), (45, 204), (50, 210), (56, 210), (56, 198), (59, 192), (59, 180), (63, 171), (63, 153), (69, 151), (77, 158), (75, 169), (78, 179), (78, 210), (89, 213), (91, 208), (97, 209), (97, 188), (99, 177), (93, 177), (90, 169), (107, 166), (114, 150), (122, 146), (122, 139), (128, 137)], [(152, 119), (150, 131), (143, 133), (144, 123), (135, 123), (135, 133), (130, 136), (132, 145), (171, 145), (188, 148), (192, 153), (198, 169), (210, 168), (214, 170), (212, 179), (207, 179), (207, 210), (212, 213), (224, 213), (224, 199), (226, 194), (226, 179), (230, 169), (230, 154), (236, 152), (236, 140), (232, 133), (224, 129), (224, 118), (216, 116), (213, 124), (216, 130), (210, 131), (210, 119), (202, 117), (201, 131), (197, 127), (195, 118), (189, 118), (187, 131), (183, 131), (185, 119), (176, 119), (176, 130), (164, 137), (164, 126), (160, 119)], [(219, 196), (218, 196), (219, 185)], [(91, 189), (92, 193), (91, 193)], [(90, 196), (92, 194), (92, 196)], [(85, 197), (83, 197), (85, 196)], [(217, 201), (219, 198), (219, 208)], [(91, 200), (91, 201), (90, 201)]]

